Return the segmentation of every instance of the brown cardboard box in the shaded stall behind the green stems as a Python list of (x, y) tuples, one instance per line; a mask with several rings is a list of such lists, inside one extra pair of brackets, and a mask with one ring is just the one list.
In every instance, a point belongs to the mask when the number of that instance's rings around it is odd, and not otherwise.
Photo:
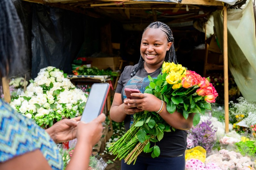
[(112, 70), (118, 70), (119, 61), (121, 57), (95, 57), (95, 58), (86, 58), (87, 62), (91, 62), (92, 67), (97, 67), (98, 69), (107, 69), (111, 68)]

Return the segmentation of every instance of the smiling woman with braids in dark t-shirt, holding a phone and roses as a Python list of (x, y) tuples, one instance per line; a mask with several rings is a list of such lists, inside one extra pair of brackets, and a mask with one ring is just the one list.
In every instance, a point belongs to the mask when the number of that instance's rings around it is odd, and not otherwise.
[[(134, 66), (126, 66), (119, 78), (110, 108), (112, 120), (115, 122), (124, 121), (125, 129), (128, 131), (134, 123), (133, 115), (146, 110), (150, 113), (158, 113), (163, 118), (163, 121), (176, 128), (175, 131), (165, 132), (161, 141), (150, 142), (150, 147), (157, 145), (160, 148), (160, 155), (157, 158), (153, 159), (150, 153), (141, 152), (136, 159), (135, 165), (127, 165), (133, 164), (133, 162), (126, 164), (123, 159), (122, 170), (131, 168), (135, 170), (185, 169), (184, 152), (187, 147), (185, 129), (192, 127), (194, 114), (189, 115), (187, 119), (177, 111), (170, 114), (163, 100), (158, 99), (153, 94), (144, 93), (150, 82), (148, 77), (156, 78), (161, 73), (164, 61), (177, 64), (173, 43), (174, 38), (169, 26), (162, 22), (151, 23), (142, 34), (139, 63)], [(140, 93), (136, 93), (136, 96), (139, 96), (140, 99), (127, 99), (124, 88), (140, 90)], [(132, 94), (135, 95), (135, 93)], [(127, 146), (127, 148), (129, 147)], [(131, 152), (128, 149), (124, 151)]]

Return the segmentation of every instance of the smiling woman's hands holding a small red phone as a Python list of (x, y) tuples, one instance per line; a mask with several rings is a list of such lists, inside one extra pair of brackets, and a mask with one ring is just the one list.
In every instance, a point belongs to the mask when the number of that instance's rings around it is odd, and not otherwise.
[[(132, 93), (132, 96), (140, 97), (140, 99), (126, 99), (124, 104), (127, 104), (125, 111), (126, 114), (141, 112), (143, 110), (148, 110), (150, 112), (156, 112), (160, 109), (162, 101), (158, 99), (153, 94), (148, 93)], [(134, 112), (135, 111), (135, 112)], [(131, 113), (132, 112), (132, 113)], [(130, 115), (129, 114), (129, 115)]]

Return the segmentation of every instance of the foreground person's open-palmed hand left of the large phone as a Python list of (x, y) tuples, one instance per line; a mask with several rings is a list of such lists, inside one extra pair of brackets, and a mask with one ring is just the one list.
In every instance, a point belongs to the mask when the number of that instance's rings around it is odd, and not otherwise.
[(62, 119), (46, 129), (55, 143), (66, 142), (76, 138), (76, 125), (81, 116), (72, 119)]

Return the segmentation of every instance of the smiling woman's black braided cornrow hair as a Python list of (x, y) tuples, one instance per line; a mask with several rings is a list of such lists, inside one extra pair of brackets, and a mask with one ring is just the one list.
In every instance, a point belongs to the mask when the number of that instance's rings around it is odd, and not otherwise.
[[(165, 35), (166, 35), (166, 38), (167, 38), (167, 41), (168, 42), (172, 42), (172, 46), (171, 48), (166, 52), (166, 55), (165, 55), (165, 62), (173, 62), (175, 64), (177, 64), (177, 59), (176, 59), (176, 53), (175, 53), (175, 49), (174, 49), (174, 38), (173, 38), (173, 35), (172, 35), (172, 30), (169, 26), (167, 26), (166, 24), (164, 24), (163, 22), (153, 22), (151, 24), (148, 25), (147, 28), (145, 28), (145, 30), (143, 31), (143, 33), (148, 29), (148, 28), (158, 28), (158, 29), (161, 29)], [(138, 70), (140, 70), (142, 68), (142, 65), (143, 65), (143, 61), (144, 59), (142, 58), (142, 56), (140, 55), (140, 60), (139, 60), (139, 64), (138, 66), (132, 71), (132, 74), (131, 74), (131, 77), (134, 76)]]

